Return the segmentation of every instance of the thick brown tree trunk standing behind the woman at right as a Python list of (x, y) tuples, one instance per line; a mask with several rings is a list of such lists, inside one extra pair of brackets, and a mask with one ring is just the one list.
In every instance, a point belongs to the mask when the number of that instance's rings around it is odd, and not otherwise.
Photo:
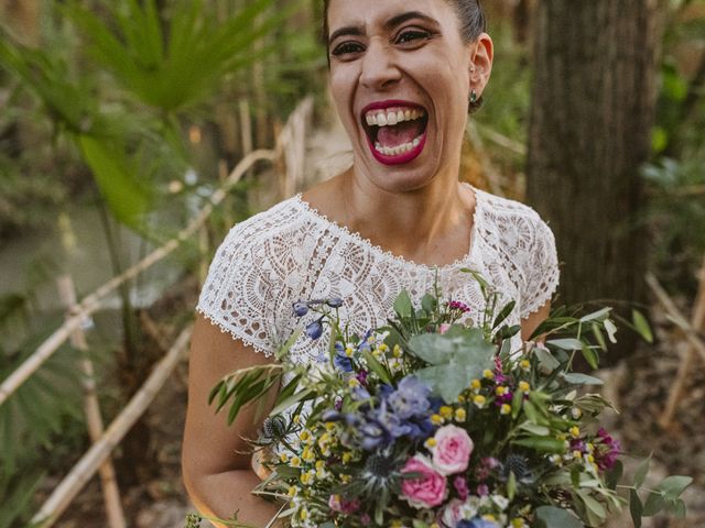
[[(639, 167), (651, 150), (663, 9), (663, 0), (539, 2), (527, 196), (555, 233), (564, 304), (623, 308), (644, 297)], [(619, 340), (627, 355), (636, 337)]]

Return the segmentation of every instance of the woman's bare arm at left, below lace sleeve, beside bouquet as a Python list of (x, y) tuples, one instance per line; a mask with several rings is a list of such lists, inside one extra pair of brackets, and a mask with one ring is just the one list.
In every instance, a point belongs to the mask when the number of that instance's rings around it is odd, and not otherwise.
[[(188, 367), (182, 471), (188, 495), (204, 515), (228, 519), (239, 512), (239, 521), (264, 527), (279, 510), (275, 504), (250, 493), (260, 480), (251, 469), (251, 457), (242, 454), (251, 451), (242, 438), (257, 438), (261, 420), (254, 421), (254, 408), (246, 407), (228, 426), (227, 406), (218, 415), (215, 407), (208, 406), (208, 393), (223, 376), (273, 361), (221, 332), (203, 316), (196, 319)], [(274, 398), (272, 389), (264, 416)]]

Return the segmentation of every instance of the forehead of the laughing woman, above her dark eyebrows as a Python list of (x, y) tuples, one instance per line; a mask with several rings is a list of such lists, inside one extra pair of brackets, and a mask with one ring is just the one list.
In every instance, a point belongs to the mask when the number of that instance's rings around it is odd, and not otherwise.
[(417, 11), (438, 22), (456, 18), (447, 0), (330, 0), (328, 28), (334, 32), (341, 26), (381, 26), (401, 13)]

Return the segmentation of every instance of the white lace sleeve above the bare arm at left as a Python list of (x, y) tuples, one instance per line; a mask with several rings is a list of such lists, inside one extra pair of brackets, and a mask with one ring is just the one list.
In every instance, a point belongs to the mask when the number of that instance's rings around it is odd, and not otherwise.
[(276, 351), (276, 305), (281, 293), (267, 272), (257, 233), (245, 223), (232, 228), (218, 248), (196, 310), (258, 352)]

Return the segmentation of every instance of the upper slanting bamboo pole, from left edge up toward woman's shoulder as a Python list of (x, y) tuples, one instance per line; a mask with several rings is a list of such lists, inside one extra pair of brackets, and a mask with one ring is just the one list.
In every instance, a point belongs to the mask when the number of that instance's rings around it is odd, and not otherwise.
[(185, 229), (180, 231), (176, 238), (166, 242), (163, 246), (154, 250), (144, 260), (127, 270), (122, 275), (113, 277), (106, 284), (96, 289), (93, 294), (84, 298), (78, 305), (72, 317), (66, 319), (64, 323), (44, 341), (36, 351), (28, 358), (22, 365), (20, 365), (10, 376), (8, 376), (2, 385), (0, 385), (0, 405), (2, 405), (17, 389), (20, 387), (42, 364), (52, 356), (58, 348), (66, 342), (70, 334), (80, 327), (82, 322), (90, 315), (93, 315), (100, 306), (102, 300), (112, 292), (115, 292), (124, 282), (134, 278), (137, 275), (149, 268), (156, 262), (169, 256), (178, 245), (186, 239), (191, 238), (200, 226), (206, 221), (208, 216), (213, 212), (213, 209), (220, 204), (227, 196), (228, 189), (235, 185), (242, 175), (250, 169), (254, 163), (259, 161), (273, 162), (276, 160), (276, 151), (259, 150), (254, 151), (245, 158), (232, 169), (228, 184), (218, 190), (216, 190), (210, 197), (210, 202), (207, 204), (196, 218)]

